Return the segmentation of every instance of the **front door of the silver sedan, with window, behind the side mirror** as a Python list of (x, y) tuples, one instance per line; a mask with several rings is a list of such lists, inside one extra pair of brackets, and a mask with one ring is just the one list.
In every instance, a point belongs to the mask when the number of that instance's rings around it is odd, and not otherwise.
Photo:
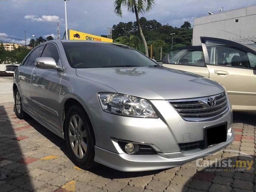
[[(51, 57), (57, 65), (61, 65), (59, 52), (54, 43), (46, 44), (41, 57)], [(60, 128), (59, 115), (61, 115), (59, 113), (59, 95), (62, 75), (63, 71), (36, 67), (31, 79), (34, 113), (58, 129)]]

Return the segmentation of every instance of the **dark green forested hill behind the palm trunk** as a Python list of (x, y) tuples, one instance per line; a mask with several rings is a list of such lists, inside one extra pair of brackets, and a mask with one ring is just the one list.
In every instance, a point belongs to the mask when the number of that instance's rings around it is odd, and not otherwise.
[[(140, 23), (149, 49), (150, 45), (153, 45), (153, 56), (156, 60), (160, 59), (161, 46), (162, 56), (171, 50), (171, 33), (175, 33), (173, 35), (173, 47), (191, 45), (193, 29), (188, 21), (185, 21), (180, 27), (173, 27), (141, 17)], [(102, 35), (102, 37), (106, 37), (106, 35)], [(113, 25), (112, 38), (114, 43), (129, 45), (143, 53), (145, 52), (136, 21), (120, 22)]]

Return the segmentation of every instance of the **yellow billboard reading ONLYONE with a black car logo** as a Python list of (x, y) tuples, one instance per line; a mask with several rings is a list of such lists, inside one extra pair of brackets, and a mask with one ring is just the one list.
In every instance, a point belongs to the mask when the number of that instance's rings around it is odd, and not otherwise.
[(68, 39), (71, 40), (88, 40), (88, 41), (104, 41), (113, 43), (113, 39), (92, 35), (89, 33), (84, 33), (80, 31), (75, 31), (72, 29), (68, 29)]

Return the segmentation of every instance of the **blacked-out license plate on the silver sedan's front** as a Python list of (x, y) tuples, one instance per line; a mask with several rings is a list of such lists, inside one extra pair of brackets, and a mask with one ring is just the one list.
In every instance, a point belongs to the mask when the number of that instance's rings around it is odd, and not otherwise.
[(205, 147), (227, 141), (227, 122), (205, 128)]

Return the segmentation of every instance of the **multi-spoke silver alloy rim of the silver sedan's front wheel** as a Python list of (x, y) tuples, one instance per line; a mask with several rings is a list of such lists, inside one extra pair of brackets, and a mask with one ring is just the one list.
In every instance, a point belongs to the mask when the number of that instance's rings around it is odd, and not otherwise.
[(82, 159), (87, 151), (87, 135), (82, 119), (78, 115), (73, 115), (68, 127), (69, 141), (74, 154)]

